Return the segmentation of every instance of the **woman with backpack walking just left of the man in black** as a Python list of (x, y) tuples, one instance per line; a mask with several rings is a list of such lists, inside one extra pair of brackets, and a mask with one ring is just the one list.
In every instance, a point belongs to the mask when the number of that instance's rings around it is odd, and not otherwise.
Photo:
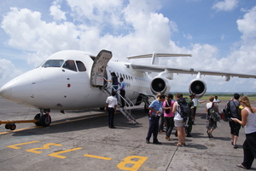
[(207, 111), (207, 134), (208, 134), (208, 138), (211, 139), (213, 138), (212, 136), (212, 131), (217, 128), (217, 122), (213, 120), (211, 114), (209, 113), (209, 109), (212, 108), (212, 107), (215, 107), (218, 111), (218, 106), (216, 105), (216, 103), (213, 103), (213, 100), (214, 100), (214, 96), (210, 96), (209, 97), (209, 101), (207, 103), (207, 106), (206, 106), (206, 111)]

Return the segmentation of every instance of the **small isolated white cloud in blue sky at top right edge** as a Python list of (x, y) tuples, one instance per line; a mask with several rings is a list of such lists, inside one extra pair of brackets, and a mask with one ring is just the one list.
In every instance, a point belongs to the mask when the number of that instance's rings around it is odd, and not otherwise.
[(212, 9), (216, 9), (218, 11), (231, 11), (236, 9), (237, 4), (238, 0), (224, 0), (222, 2), (213, 4)]

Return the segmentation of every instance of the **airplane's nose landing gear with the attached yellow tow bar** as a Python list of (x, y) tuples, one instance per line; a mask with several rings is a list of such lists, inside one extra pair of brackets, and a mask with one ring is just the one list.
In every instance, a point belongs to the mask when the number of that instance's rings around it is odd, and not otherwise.
[(48, 127), (51, 123), (51, 117), (49, 116), (49, 110), (40, 109), (40, 113), (38, 113), (33, 120), (21, 120), (21, 121), (1, 121), (0, 125), (5, 123), (5, 128), (10, 130), (15, 130), (15, 123), (35, 123), (37, 126)]

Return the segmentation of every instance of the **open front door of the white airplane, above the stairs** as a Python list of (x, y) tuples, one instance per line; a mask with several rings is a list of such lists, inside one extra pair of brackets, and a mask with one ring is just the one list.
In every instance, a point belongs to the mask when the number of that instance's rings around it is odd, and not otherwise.
[(90, 83), (92, 86), (103, 86), (104, 85), (104, 72), (108, 61), (112, 58), (112, 52), (108, 50), (102, 50), (94, 60), (94, 63), (90, 71)]

